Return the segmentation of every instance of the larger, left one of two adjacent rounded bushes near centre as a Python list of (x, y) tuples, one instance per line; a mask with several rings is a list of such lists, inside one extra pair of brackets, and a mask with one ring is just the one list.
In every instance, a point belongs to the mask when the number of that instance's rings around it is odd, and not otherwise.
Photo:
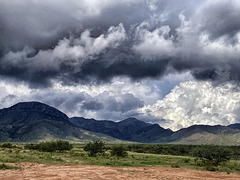
[(96, 157), (99, 154), (103, 154), (105, 152), (105, 144), (104, 142), (98, 140), (87, 143), (83, 147), (84, 151), (88, 152), (88, 156)]

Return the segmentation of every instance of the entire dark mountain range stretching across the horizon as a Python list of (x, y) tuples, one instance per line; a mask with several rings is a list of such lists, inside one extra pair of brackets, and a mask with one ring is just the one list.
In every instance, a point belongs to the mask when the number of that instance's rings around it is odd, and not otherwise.
[(158, 124), (128, 118), (109, 120), (69, 118), (58, 109), (40, 102), (20, 102), (0, 110), (0, 141), (38, 142), (65, 139), (108, 143), (178, 143), (240, 145), (240, 124), (194, 125), (173, 132)]

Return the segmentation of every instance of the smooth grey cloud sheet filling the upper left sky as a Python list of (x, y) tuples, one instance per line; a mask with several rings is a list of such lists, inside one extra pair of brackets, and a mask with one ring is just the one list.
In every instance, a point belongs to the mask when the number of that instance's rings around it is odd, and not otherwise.
[(144, 4), (132, 2), (1, 0), (0, 52), (19, 51), (26, 46), (49, 49), (59, 39), (69, 34), (78, 36), (85, 29), (95, 30), (98, 33), (92, 35), (97, 36), (119, 23), (130, 28), (148, 18), (149, 12)]

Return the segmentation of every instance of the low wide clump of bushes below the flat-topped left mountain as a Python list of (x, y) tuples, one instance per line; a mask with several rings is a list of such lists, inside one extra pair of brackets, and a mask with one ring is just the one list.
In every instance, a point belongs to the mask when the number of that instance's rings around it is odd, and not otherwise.
[(63, 152), (71, 150), (73, 145), (68, 141), (57, 140), (49, 142), (40, 142), (39, 144), (27, 144), (24, 146), (25, 149), (38, 150), (43, 152)]

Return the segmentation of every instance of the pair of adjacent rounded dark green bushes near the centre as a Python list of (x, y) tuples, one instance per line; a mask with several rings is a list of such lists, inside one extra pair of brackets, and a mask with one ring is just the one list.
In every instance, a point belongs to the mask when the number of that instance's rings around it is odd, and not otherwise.
[[(109, 149), (105, 146), (104, 142), (98, 140), (87, 143), (83, 147), (84, 151), (88, 152), (88, 156), (96, 157), (99, 155), (104, 155), (106, 150)], [(116, 157), (126, 157), (128, 155), (127, 149), (123, 145), (114, 145), (110, 148), (111, 156)]]

